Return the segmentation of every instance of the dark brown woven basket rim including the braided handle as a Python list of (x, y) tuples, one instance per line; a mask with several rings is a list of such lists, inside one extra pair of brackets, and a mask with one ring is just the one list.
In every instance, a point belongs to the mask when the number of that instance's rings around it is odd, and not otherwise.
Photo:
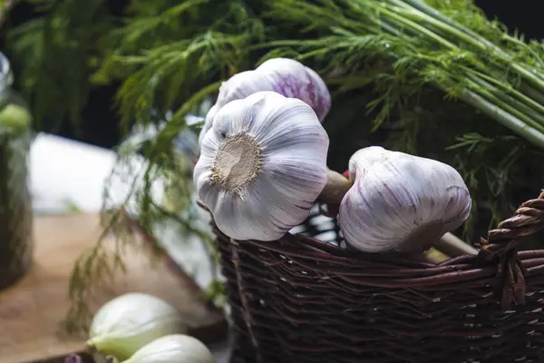
[[(199, 205), (208, 211), (206, 206)], [(544, 190), (537, 199), (525, 201), (509, 219), (500, 222), (497, 229), (488, 233), (476, 245), (477, 255), (461, 255), (440, 264), (412, 260), (397, 254), (364, 253), (348, 250), (315, 238), (286, 233), (279, 240), (233, 240), (222, 233), (213, 221), (216, 235), (238, 245), (243, 253), (252, 254), (252, 249), (268, 250), (296, 263), (307, 265), (309, 270), (323, 273), (342, 271), (343, 279), (366, 286), (393, 289), (436, 287), (455, 289), (456, 285), (481, 284), (482, 280), (497, 281), (501, 305), (509, 308), (512, 303), (524, 303), (525, 276), (532, 271), (544, 269), (544, 250), (519, 251), (523, 237), (544, 228)], [(320, 267), (322, 263), (326, 267)], [(349, 269), (356, 270), (350, 278)], [(347, 270), (347, 272), (346, 272)], [(340, 272), (339, 272), (340, 273)]]

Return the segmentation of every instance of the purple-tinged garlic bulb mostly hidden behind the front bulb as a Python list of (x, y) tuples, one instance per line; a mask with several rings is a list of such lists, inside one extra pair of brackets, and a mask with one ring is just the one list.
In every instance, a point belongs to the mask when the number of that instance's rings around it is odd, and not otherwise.
[(331, 107), (331, 95), (328, 88), (314, 70), (293, 59), (269, 59), (254, 71), (234, 74), (228, 81), (221, 84), (218, 100), (206, 115), (204, 126), (199, 134), (199, 144), (221, 107), (260, 91), (273, 91), (304, 101), (316, 112), (320, 122), (323, 122)]

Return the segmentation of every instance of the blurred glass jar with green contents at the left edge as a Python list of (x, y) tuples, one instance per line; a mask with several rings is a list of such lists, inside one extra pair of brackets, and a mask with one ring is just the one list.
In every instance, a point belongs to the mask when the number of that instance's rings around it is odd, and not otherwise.
[(0, 53), (0, 289), (24, 276), (34, 245), (28, 172), (32, 117), (13, 81), (9, 61)]

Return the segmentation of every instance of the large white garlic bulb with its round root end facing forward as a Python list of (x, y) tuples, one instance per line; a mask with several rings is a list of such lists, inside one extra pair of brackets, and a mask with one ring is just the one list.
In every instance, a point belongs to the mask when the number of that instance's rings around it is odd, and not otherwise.
[(275, 92), (223, 106), (202, 141), (193, 180), (219, 230), (277, 240), (324, 189), (329, 139), (306, 103)]

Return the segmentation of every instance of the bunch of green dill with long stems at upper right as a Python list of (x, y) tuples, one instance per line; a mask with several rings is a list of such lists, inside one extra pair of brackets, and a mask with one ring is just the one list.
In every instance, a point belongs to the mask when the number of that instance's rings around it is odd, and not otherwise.
[[(340, 81), (351, 88), (377, 83), (382, 94), (369, 103), (371, 111), (382, 108), (376, 126), (403, 97), (431, 84), (544, 148), (544, 103), (533, 98), (544, 91), (543, 49), (520, 46), (497, 23), (491, 30), (477, 27), (480, 34), (461, 25), (455, 18), (467, 14), (472, 23), (474, 19), (486, 23), (474, 5), (452, 3), (435, 2), (437, 8), (432, 8), (419, 0), (270, 0), (269, 17), (307, 25), (306, 31), (317, 30), (322, 37), (268, 45), (294, 47), (301, 60), (328, 59), (328, 71), (356, 68), (376, 57), (389, 60), (390, 76), (369, 80), (365, 74), (349, 74)], [(448, 9), (454, 9), (450, 12), (454, 17), (439, 12)], [(520, 52), (502, 45), (505, 41), (514, 42)]]

